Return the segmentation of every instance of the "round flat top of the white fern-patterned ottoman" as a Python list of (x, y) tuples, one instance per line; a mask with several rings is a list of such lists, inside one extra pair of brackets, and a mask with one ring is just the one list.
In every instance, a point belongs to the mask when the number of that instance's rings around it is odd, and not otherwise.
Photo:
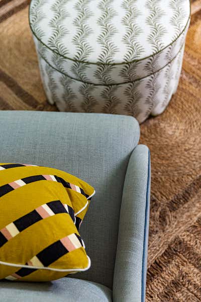
[(32, 0), (33, 34), (70, 60), (121, 64), (152, 56), (185, 30), (189, 0)]

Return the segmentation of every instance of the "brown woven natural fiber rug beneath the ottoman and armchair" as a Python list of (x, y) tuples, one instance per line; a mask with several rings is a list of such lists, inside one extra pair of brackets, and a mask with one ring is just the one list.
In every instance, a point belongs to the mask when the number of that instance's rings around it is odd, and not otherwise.
[[(57, 110), (43, 92), (27, 0), (0, 0), (0, 109)], [(201, 0), (191, 2), (179, 88), (141, 125), (151, 150), (147, 301), (201, 301)]]

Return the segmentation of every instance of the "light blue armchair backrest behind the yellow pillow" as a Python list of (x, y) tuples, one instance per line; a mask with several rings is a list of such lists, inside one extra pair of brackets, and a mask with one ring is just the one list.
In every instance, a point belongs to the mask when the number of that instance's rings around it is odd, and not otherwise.
[(124, 178), (138, 140), (128, 116), (0, 111), (0, 162), (61, 169), (96, 190), (80, 228), (91, 268), (73, 277), (112, 288)]

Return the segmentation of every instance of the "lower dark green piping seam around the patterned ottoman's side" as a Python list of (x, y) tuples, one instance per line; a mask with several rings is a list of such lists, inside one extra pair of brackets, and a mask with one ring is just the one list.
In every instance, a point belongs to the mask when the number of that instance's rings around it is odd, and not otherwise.
[(66, 77), (68, 77), (69, 79), (71, 80), (74, 80), (74, 81), (77, 81), (77, 82), (80, 82), (80, 83), (84, 83), (84, 84), (90, 84), (90, 85), (93, 85), (93, 86), (120, 86), (120, 85), (125, 85), (125, 84), (130, 84), (130, 83), (134, 83), (134, 82), (137, 82), (137, 81), (141, 81), (141, 80), (144, 80), (148, 77), (150, 77), (151, 75), (161, 71), (163, 68), (165, 68), (167, 65), (169, 65), (176, 57), (177, 55), (179, 54), (179, 52), (181, 51), (182, 47), (185, 45), (185, 42), (182, 44), (182, 46), (180, 47), (179, 51), (176, 53), (176, 55), (167, 63), (165, 64), (163, 67), (159, 68), (158, 70), (154, 71), (153, 73), (149, 74), (149, 75), (146, 75), (145, 77), (142, 77), (142, 78), (139, 78), (139, 79), (136, 79), (134, 81), (129, 81), (129, 82), (122, 82), (122, 83), (114, 83), (114, 84), (94, 84), (94, 83), (91, 83), (91, 82), (86, 82), (86, 81), (80, 81), (78, 79), (75, 79), (75, 78), (72, 78), (70, 75), (68, 75), (67, 73), (64, 73), (62, 71), (60, 71), (59, 69), (55, 68), (54, 66), (52, 66), (45, 58), (44, 56), (39, 52), (38, 54), (43, 58), (43, 60), (50, 66), (52, 67), (54, 70), (58, 71), (59, 73), (65, 75)]

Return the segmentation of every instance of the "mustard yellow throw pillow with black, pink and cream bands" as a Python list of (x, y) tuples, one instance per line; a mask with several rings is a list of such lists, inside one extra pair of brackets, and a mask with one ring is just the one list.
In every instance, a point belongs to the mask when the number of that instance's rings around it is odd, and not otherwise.
[(0, 164), (0, 279), (50, 281), (87, 270), (78, 231), (94, 193), (57, 169)]

